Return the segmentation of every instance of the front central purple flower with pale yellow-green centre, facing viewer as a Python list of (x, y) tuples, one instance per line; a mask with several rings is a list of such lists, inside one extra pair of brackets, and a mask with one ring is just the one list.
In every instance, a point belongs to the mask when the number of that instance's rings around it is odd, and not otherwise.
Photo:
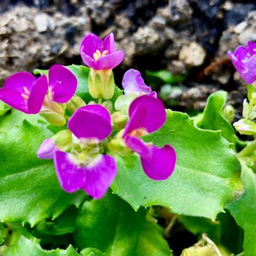
[(83, 106), (67, 126), (76, 146), (69, 153), (55, 152), (59, 183), (68, 193), (84, 189), (94, 199), (100, 199), (117, 174), (115, 158), (100, 154), (100, 142), (112, 131), (110, 115), (100, 105)]

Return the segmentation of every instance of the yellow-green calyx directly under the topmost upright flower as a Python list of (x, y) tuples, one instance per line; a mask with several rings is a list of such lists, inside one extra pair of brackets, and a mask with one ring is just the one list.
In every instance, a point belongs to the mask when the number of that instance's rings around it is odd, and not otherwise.
[(112, 69), (90, 69), (89, 93), (92, 98), (110, 100), (115, 91), (115, 82)]

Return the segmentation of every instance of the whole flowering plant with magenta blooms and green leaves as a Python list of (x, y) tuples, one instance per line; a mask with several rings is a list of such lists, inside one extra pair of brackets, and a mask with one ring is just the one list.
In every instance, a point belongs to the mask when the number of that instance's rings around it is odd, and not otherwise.
[[(228, 53), (248, 84), (234, 127), (254, 137), (255, 50), (249, 42)], [(80, 54), (87, 67), (15, 73), (0, 89), (12, 108), (0, 111), (0, 255), (167, 256), (162, 233), (174, 222), (199, 238), (207, 233), (183, 255), (253, 255), (256, 143), (236, 136), (226, 92), (191, 119), (166, 110), (135, 69), (123, 90), (115, 85), (125, 53), (112, 33), (103, 41), (87, 34)], [(164, 231), (156, 218), (166, 211)], [(224, 225), (236, 243), (223, 239)], [(44, 251), (34, 236), (44, 248), (64, 249)]]

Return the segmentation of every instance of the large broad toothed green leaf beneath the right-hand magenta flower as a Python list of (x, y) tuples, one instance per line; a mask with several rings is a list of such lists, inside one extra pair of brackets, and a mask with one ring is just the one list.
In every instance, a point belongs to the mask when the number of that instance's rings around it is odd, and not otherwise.
[(153, 181), (136, 154), (115, 156), (119, 171), (111, 187), (134, 209), (163, 205), (177, 214), (214, 219), (241, 195), (241, 165), (219, 131), (198, 129), (188, 115), (167, 110), (165, 125), (145, 140), (172, 145), (177, 164), (169, 179)]

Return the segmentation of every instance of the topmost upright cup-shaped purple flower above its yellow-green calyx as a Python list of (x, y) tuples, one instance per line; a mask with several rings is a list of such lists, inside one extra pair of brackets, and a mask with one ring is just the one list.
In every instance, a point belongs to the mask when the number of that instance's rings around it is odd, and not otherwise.
[(111, 33), (102, 42), (95, 34), (84, 36), (80, 46), (81, 57), (92, 69), (113, 69), (125, 57), (123, 51), (116, 51), (114, 34)]

